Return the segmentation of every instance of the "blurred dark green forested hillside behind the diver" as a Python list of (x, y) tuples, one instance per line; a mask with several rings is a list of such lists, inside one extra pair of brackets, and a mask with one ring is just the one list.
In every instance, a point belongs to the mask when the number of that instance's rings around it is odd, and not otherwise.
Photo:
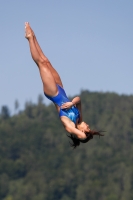
[(1, 200), (133, 199), (133, 96), (80, 96), (84, 121), (106, 132), (75, 150), (41, 96), (14, 116), (1, 108)]

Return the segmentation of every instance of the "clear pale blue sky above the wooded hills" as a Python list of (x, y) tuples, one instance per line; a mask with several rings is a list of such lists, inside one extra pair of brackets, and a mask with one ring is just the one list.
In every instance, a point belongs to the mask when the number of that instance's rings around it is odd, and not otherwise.
[(16, 100), (23, 110), (43, 95), (26, 21), (68, 96), (81, 90), (133, 94), (133, 1), (0, 0), (0, 109), (14, 113)]

